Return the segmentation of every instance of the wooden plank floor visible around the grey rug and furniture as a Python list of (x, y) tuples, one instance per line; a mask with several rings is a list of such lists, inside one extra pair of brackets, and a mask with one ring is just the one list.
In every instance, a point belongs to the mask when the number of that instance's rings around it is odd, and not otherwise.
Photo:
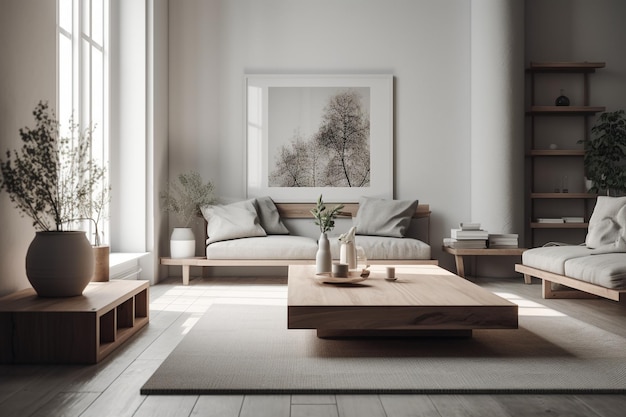
[[(538, 282), (521, 278), (476, 282), (626, 336), (624, 303), (542, 300)], [(626, 409), (626, 395), (142, 396), (144, 382), (213, 303), (286, 305), (286, 278), (194, 279), (188, 287), (178, 278), (153, 286), (150, 298), (150, 324), (97, 365), (0, 366), (0, 416), (621, 417)]]

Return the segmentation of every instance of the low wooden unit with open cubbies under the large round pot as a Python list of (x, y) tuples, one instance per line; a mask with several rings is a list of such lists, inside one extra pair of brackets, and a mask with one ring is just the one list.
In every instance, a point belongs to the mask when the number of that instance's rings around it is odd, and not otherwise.
[(83, 295), (0, 298), (0, 363), (97, 363), (149, 321), (148, 281), (92, 282)]

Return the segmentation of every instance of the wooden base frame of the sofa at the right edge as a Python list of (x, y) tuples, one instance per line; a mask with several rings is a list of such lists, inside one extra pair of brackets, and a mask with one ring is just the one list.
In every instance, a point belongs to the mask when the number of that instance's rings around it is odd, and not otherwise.
[[(590, 282), (555, 274), (527, 265), (516, 264), (515, 271), (524, 274), (524, 281), (529, 282), (531, 277), (541, 279), (543, 298), (595, 298), (603, 297), (609, 300), (622, 301), (626, 299), (626, 289), (616, 290), (605, 288)], [(565, 285), (572, 290), (553, 290), (552, 283)]]

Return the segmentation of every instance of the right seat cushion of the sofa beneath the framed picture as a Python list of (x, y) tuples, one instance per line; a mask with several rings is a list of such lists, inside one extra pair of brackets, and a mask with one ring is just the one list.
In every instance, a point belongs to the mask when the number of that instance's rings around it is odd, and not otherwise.
[[(363, 248), (367, 259), (430, 259), (430, 246), (408, 237), (357, 235), (355, 243)], [(339, 259), (338, 240), (330, 239), (330, 244), (333, 259)]]

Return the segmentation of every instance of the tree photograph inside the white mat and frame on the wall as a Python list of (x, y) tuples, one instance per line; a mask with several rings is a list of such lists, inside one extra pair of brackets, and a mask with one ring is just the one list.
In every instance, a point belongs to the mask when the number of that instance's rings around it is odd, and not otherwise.
[(368, 187), (370, 89), (273, 87), (270, 187)]

